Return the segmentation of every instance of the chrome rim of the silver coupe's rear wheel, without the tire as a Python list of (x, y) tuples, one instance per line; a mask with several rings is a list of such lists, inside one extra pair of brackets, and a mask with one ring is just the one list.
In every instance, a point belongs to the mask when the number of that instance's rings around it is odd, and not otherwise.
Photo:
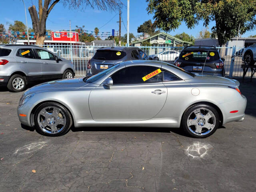
[(198, 108), (190, 113), (187, 120), (188, 129), (195, 135), (206, 135), (216, 125), (216, 117), (206, 108)]

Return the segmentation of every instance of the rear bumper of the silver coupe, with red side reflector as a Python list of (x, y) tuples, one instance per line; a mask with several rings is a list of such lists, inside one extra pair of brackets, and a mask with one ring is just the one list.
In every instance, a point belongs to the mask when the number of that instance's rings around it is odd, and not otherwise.
[[(243, 121), (245, 117), (244, 112), (246, 109), (246, 104), (247, 99), (243, 95), (240, 100), (218, 104), (218, 107), (222, 111), (223, 124), (233, 121)], [(238, 112), (234, 112), (236, 110)]]

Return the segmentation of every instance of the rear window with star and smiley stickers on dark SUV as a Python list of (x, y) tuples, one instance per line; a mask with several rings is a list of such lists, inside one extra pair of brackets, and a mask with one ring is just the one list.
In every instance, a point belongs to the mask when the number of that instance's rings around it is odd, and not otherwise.
[(180, 53), (180, 59), (188, 62), (212, 62), (220, 59), (220, 56), (213, 50), (183, 50)]

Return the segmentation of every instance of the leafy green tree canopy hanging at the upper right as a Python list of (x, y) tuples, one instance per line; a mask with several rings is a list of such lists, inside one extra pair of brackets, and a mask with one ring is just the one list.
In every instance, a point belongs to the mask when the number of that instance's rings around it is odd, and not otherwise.
[(204, 26), (215, 21), (211, 37), (218, 37), (219, 45), (240, 34), (255, 29), (255, 0), (146, 0), (148, 13), (154, 14), (154, 26), (164, 31), (177, 29), (184, 21), (194, 28), (200, 20)]

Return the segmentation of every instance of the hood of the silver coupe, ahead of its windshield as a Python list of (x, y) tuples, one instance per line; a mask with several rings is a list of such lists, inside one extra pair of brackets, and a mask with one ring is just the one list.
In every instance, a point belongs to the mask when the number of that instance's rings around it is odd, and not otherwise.
[(31, 94), (31, 93), (38, 93), (44, 91), (58, 91), (58, 90), (74, 90), (80, 87), (86, 86), (88, 83), (83, 81), (83, 78), (73, 78), (73, 79), (62, 79), (62, 80), (55, 80), (49, 81), (46, 83), (38, 84), (30, 89), (28, 89), (24, 96)]

